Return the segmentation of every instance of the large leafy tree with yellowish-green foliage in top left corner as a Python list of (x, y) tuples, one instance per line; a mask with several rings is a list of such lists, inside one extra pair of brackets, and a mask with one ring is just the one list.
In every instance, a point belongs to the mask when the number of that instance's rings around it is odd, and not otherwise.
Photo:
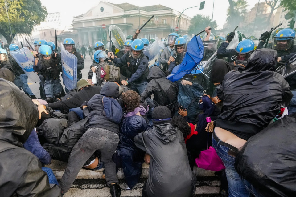
[[(47, 15), (46, 7), (39, 0), (6, 0), (6, 4), (13, 38), (16, 34), (30, 35), (33, 26), (39, 25)], [(3, 0), (0, 1), (0, 34), (8, 44), (13, 40)]]

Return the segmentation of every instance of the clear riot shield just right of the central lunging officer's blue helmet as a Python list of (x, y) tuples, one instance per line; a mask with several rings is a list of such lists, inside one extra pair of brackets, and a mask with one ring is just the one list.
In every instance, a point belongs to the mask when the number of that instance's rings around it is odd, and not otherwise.
[(158, 50), (158, 38), (154, 38), (155, 41), (147, 46), (144, 46), (143, 53), (149, 58), (149, 68), (153, 65), (159, 66), (159, 50)]

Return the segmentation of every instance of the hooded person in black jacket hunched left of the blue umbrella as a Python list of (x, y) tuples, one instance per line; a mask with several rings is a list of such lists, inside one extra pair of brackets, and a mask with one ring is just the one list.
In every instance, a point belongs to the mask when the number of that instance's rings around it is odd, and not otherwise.
[(152, 66), (147, 77), (149, 83), (140, 96), (143, 103), (146, 98), (154, 94), (153, 103), (155, 107), (166, 106), (171, 114), (175, 113), (178, 96), (178, 85), (168, 80), (165, 73), (158, 66)]

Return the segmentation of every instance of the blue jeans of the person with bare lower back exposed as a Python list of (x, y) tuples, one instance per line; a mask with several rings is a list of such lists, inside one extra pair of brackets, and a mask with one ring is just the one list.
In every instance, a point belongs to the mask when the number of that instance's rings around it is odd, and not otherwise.
[(245, 186), (244, 179), (236, 172), (234, 167), (235, 157), (231, 155), (231, 152), (234, 152), (234, 150), (221, 145), (220, 143), (222, 141), (219, 139), (217, 142), (214, 139), (214, 135), (216, 137), (215, 131), (212, 136), (212, 146), (215, 148), (217, 155), (222, 159), (226, 168), (229, 197), (249, 197), (249, 191)]

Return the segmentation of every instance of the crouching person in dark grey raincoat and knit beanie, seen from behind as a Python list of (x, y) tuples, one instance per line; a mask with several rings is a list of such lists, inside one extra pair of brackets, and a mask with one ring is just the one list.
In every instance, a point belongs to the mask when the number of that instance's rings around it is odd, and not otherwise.
[(134, 138), (136, 146), (151, 156), (142, 196), (192, 196), (196, 177), (189, 166), (183, 134), (171, 125), (171, 111), (167, 107), (155, 107), (152, 118), (153, 128)]

